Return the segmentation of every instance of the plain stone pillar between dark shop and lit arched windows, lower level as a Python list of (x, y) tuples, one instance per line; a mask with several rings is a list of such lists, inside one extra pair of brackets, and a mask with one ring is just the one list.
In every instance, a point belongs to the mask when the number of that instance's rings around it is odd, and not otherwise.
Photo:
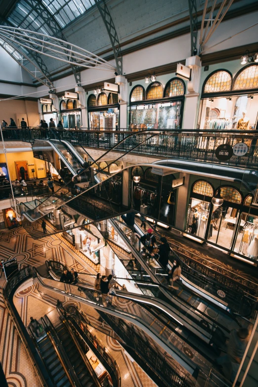
[(184, 229), (187, 216), (189, 173), (180, 172), (179, 178), (184, 177), (184, 185), (177, 188), (177, 202), (175, 210), (175, 227)]

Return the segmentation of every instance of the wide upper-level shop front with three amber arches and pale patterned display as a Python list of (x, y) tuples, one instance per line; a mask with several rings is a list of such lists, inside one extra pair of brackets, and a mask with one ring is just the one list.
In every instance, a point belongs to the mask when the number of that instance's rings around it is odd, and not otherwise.
[(185, 85), (178, 78), (172, 78), (165, 89), (159, 82), (151, 83), (146, 90), (134, 86), (129, 98), (129, 129), (180, 129), (184, 94)]

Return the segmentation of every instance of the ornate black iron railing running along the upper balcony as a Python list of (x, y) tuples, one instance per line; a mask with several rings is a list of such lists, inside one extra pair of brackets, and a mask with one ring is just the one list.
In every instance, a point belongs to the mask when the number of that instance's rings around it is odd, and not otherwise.
[[(98, 130), (56, 129), (60, 140), (70, 141), (69, 132), (73, 133), (73, 145), (111, 149), (140, 154), (160, 156), (191, 161), (203, 161), (215, 164), (254, 168), (258, 166), (258, 131), (256, 130), (142, 130), (138, 132)], [(35, 139), (51, 139), (49, 129), (3, 129), (4, 140), (34, 142)], [(246, 155), (233, 155), (226, 162), (215, 156), (218, 145), (234, 146), (244, 142), (248, 146)]]

